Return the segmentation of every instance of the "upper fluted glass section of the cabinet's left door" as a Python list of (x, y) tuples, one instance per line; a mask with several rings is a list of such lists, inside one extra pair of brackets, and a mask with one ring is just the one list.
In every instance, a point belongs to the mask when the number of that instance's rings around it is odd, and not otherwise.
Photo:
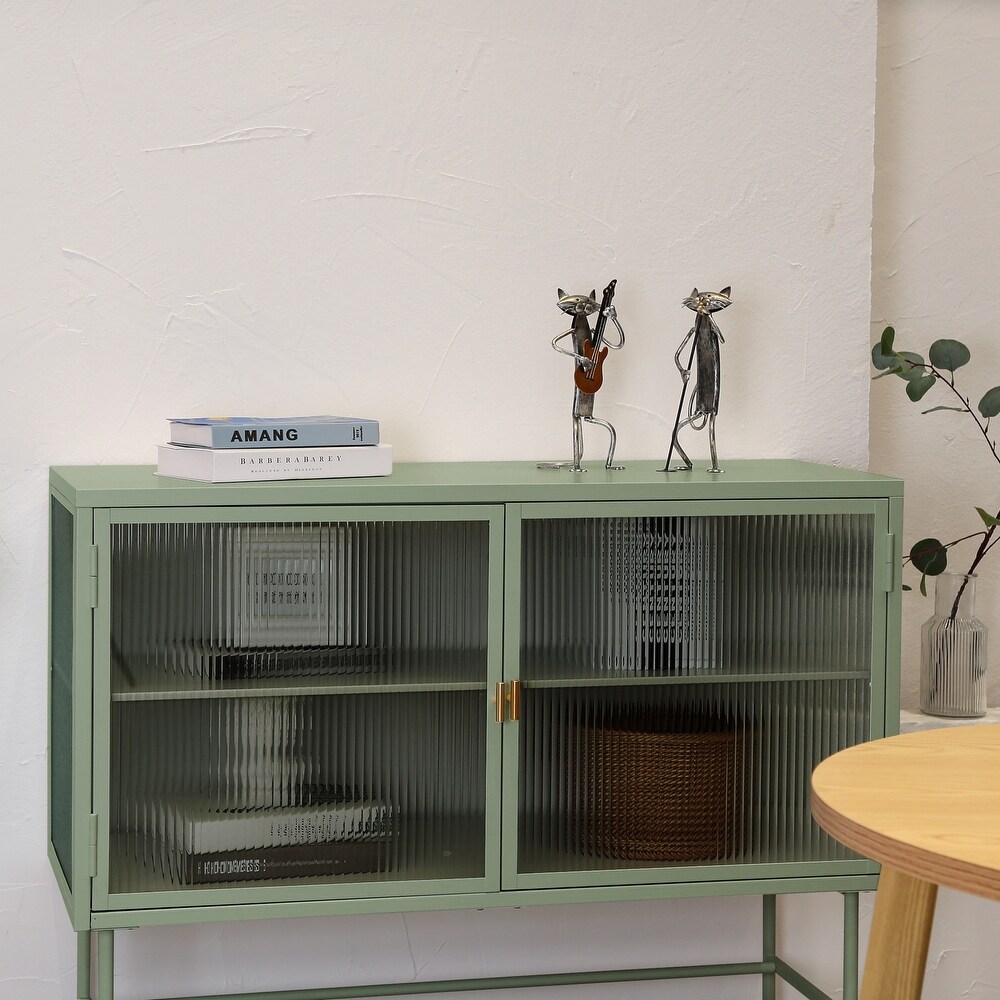
[(112, 690), (485, 682), (485, 521), (116, 524)]

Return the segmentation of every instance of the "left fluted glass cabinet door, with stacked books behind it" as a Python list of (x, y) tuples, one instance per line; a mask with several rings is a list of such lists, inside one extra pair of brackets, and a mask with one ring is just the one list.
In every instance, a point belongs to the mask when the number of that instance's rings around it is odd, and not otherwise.
[(112, 900), (497, 881), (501, 519), (356, 515), (109, 525)]

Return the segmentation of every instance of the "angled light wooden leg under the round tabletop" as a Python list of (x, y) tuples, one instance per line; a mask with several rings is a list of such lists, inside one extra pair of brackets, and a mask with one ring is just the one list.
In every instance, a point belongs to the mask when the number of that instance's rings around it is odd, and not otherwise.
[(937, 886), (882, 865), (861, 1000), (920, 1000)]

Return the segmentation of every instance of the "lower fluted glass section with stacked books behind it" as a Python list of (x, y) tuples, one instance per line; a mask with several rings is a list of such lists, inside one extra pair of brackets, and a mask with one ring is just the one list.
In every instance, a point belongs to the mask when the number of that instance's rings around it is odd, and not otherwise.
[(484, 874), (484, 691), (116, 702), (109, 889)]

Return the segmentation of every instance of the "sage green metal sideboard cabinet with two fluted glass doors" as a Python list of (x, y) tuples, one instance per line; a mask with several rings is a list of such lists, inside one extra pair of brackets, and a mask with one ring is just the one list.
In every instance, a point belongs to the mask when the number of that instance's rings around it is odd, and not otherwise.
[(856, 997), (877, 867), (812, 822), (809, 777), (896, 731), (902, 484), (656, 465), (53, 468), (49, 855), (77, 995), (111, 1000), (123, 928), (757, 895), (759, 962), (383, 993), (759, 975), (822, 998), (776, 953), (776, 898), (833, 891)]

